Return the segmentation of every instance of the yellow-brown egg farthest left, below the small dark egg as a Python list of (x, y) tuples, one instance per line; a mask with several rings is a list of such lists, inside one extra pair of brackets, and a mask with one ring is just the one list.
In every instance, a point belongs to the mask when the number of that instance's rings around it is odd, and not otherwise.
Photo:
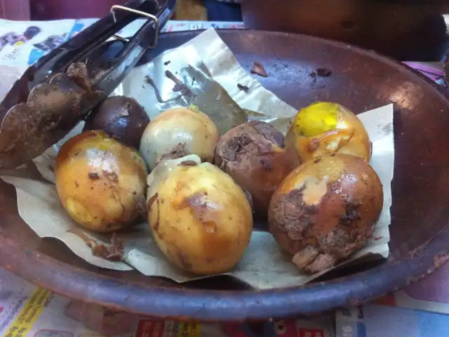
[(145, 209), (147, 167), (137, 150), (104, 131), (85, 131), (62, 145), (56, 190), (76, 223), (95, 232), (127, 227)]

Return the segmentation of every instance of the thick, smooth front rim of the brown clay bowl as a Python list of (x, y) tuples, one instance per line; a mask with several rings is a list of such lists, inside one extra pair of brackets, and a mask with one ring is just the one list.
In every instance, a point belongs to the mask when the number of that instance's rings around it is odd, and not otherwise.
[(161, 319), (241, 322), (310, 315), (359, 305), (396, 291), (426, 277), (447, 262), (447, 242), (448, 227), (401, 260), (389, 260), (364, 272), (330, 282), (243, 291), (146, 288), (137, 282), (99, 276), (32, 251), (19, 239), (7, 237), (1, 230), (0, 260), (3, 267), (15, 275), (75, 300)]

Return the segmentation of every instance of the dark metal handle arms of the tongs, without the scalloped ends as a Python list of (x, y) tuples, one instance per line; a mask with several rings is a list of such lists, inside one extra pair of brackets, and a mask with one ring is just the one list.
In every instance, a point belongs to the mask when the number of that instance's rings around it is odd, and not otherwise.
[[(123, 6), (128, 11), (109, 13), (105, 18), (93, 23), (72, 39), (44, 55), (25, 71), (0, 103), (0, 119), (3, 119), (6, 112), (14, 105), (26, 102), (32, 88), (46, 81), (52, 74), (65, 72), (72, 62), (79, 62), (86, 58), (90, 58), (91, 61), (101, 60), (102, 51), (104, 52), (109, 45), (105, 44), (105, 41), (130, 22), (141, 17), (140, 14), (130, 12), (130, 10), (148, 13), (158, 18), (160, 29), (170, 18), (175, 4), (176, 0), (130, 0)], [(98, 81), (94, 83), (95, 90), (103, 91), (105, 95), (114, 90), (119, 81), (138, 62), (145, 50), (153, 45), (153, 38), (157, 37), (156, 27), (153, 26), (156, 26), (153, 20), (147, 21), (132, 39), (126, 41), (125, 46), (121, 48), (121, 52), (116, 55), (114, 60), (105, 62), (102, 70), (109, 67), (109, 70), (104, 72), (105, 82), (103, 84)], [(122, 67), (119, 67), (120, 62), (123, 62)]]

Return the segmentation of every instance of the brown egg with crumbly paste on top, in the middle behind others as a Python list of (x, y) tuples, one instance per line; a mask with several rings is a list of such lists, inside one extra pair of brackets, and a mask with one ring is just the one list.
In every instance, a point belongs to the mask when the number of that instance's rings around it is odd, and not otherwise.
[(267, 218), (276, 187), (300, 161), (279, 130), (263, 121), (250, 121), (220, 138), (215, 164), (251, 194), (255, 215)]

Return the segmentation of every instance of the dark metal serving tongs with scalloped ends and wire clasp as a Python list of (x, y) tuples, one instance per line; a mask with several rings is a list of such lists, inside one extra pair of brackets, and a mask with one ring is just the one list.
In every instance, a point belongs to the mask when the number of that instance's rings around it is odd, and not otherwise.
[[(109, 15), (29, 67), (0, 103), (0, 169), (39, 156), (86, 118), (156, 46), (174, 8), (175, 0), (112, 6)], [(138, 18), (147, 20), (133, 37), (117, 35)]]

